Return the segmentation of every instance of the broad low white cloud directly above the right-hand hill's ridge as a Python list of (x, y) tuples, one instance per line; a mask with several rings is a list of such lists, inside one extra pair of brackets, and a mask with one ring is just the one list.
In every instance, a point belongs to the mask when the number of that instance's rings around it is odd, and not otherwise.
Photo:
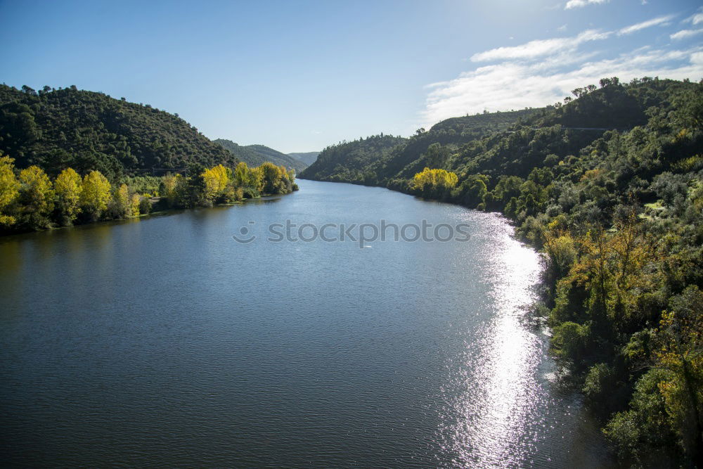
[[(583, 60), (587, 57), (587, 60)], [(423, 127), (467, 113), (541, 107), (561, 101), (571, 90), (598, 84), (602, 77), (622, 82), (635, 77), (701, 79), (703, 46), (666, 51), (641, 47), (616, 58), (582, 56), (571, 67), (557, 60), (505, 60), (464, 72), (456, 79), (432, 84), (421, 115)]]

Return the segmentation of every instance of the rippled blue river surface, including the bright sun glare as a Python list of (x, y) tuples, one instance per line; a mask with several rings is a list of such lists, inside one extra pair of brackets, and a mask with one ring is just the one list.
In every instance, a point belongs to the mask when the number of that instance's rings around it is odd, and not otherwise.
[[(241, 206), (0, 238), (4, 462), (607, 463), (529, 321), (538, 255), (501, 217), (299, 183)], [(471, 229), (465, 243), (266, 242), (286, 219)], [(259, 238), (236, 243), (241, 226)]]

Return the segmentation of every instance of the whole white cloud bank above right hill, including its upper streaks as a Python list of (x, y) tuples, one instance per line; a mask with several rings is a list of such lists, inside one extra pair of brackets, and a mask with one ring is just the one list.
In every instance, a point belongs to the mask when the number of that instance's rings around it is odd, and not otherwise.
[[(654, 18), (619, 31), (629, 34), (670, 20), (669, 16)], [(676, 34), (672, 34), (672, 39)], [(607, 57), (592, 46), (605, 45), (602, 41), (606, 39), (620, 40), (614, 32), (586, 30), (573, 37), (541, 39), (476, 53), (471, 57), (473, 63), (480, 64), (475, 70), (427, 85), (420, 121), (428, 127), (449, 117), (484, 109), (541, 107), (561, 101), (572, 89), (598, 84), (602, 77), (617, 76), (622, 82), (645, 76), (696, 81), (703, 78), (703, 45), (684, 49), (644, 46)], [(591, 50), (581, 51), (585, 44), (592, 46), (588, 47)]]

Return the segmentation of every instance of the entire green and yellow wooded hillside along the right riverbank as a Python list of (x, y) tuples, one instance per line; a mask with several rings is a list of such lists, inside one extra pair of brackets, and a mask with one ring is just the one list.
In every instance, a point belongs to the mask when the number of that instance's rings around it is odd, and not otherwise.
[(545, 253), (553, 353), (622, 461), (703, 467), (703, 84), (574, 95), (498, 129), (479, 115), (341, 143), (301, 177), (510, 217)]

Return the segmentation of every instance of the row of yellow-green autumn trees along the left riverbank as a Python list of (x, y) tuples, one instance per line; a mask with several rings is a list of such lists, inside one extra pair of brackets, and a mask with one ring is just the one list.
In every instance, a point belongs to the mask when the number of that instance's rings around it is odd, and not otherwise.
[(80, 176), (69, 167), (51, 179), (36, 165), (16, 169), (13, 158), (0, 156), (0, 236), (233, 205), (298, 190), (295, 171), (271, 162), (209, 169), (193, 163), (185, 173), (123, 177), (110, 184), (97, 170)]

